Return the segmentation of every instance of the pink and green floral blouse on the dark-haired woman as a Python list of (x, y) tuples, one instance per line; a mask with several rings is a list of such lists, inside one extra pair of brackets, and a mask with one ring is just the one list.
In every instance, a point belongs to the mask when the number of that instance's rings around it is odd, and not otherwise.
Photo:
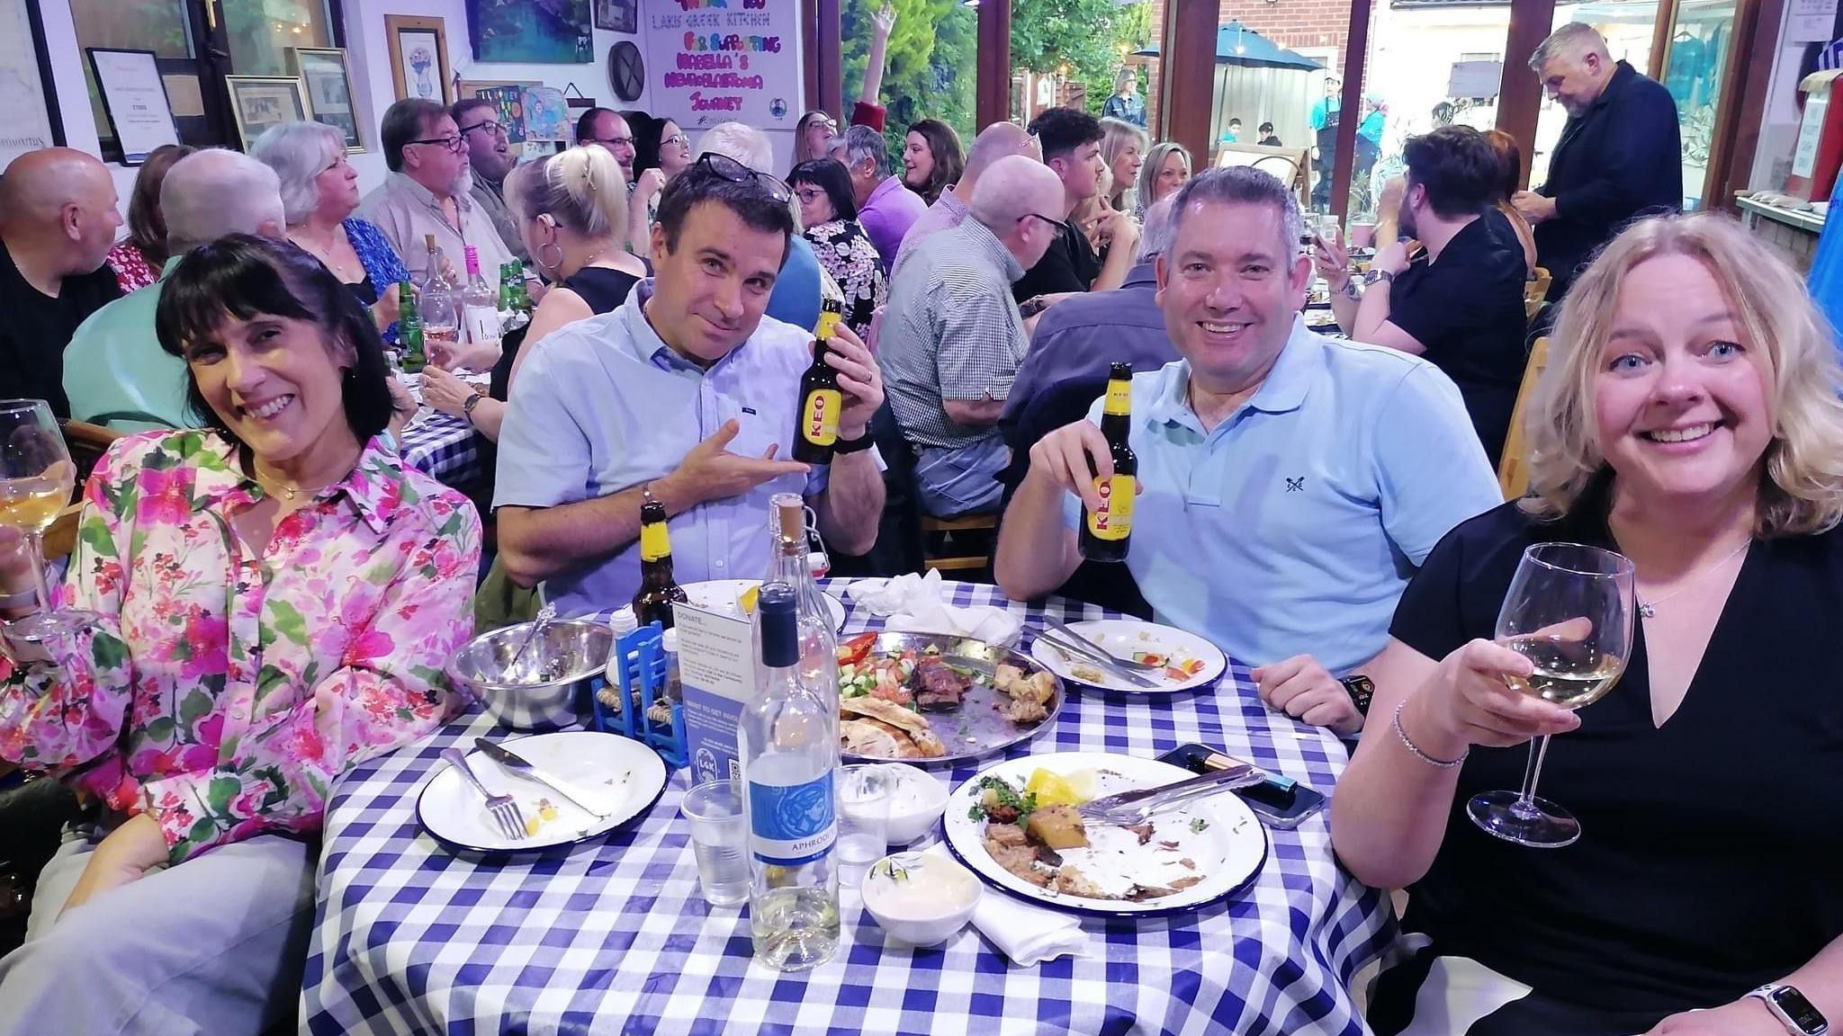
[(109, 448), (57, 597), (101, 621), (52, 664), (0, 658), (0, 758), (123, 813), (173, 863), (315, 831), (334, 778), (429, 734), (466, 697), (479, 514), (372, 439), (260, 557), (229, 520), (264, 490), (214, 431)]

